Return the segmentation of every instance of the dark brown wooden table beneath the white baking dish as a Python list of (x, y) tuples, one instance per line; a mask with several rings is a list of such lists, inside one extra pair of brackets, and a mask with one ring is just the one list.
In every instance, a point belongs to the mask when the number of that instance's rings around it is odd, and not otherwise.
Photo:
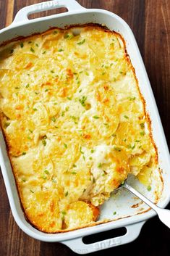
[[(43, 0), (0, 0), (0, 28), (9, 25), (17, 11)], [(78, 0), (87, 8), (108, 9), (132, 28), (148, 72), (166, 139), (170, 145), (170, 0)], [(53, 11), (53, 13), (55, 13)], [(170, 168), (170, 167), (169, 167)], [(36, 241), (14, 222), (0, 175), (0, 255), (76, 255), (63, 244)], [(170, 205), (168, 206), (170, 209)], [(103, 239), (105, 234), (102, 235)], [(93, 255), (168, 256), (170, 231), (155, 217), (148, 220), (137, 240)]]

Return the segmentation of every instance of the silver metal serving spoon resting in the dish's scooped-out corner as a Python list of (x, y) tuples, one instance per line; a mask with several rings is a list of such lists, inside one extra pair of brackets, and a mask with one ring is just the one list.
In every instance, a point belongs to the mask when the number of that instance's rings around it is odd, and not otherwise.
[(170, 210), (163, 209), (161, 207), (158, 207), (157, 205), (153, 204), (148, 198), (144, 197), (143, 194), (140, 194), (139, 191), (136, 189), (132, 188), (129, 184), (127, 184), (127, 181), (122, 183), (121, 188), (127, 189), (135, 196), (139, 197), (143, 202), (145, 202), (146, 205), (148, 205), (150, 208), (152, 208), (157, 214), (158, 218), (163, 222), (166, 226), (170, 228)]

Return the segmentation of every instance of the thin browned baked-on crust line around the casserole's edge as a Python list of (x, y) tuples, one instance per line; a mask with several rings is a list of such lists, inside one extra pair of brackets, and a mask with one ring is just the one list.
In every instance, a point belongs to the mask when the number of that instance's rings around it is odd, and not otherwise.
[[(18, 37), (16, 37), (16, 38), (12, 38), (11, 40), (2, 43), (2, 44), (0, 45), (0, 47), (1, 47), (1, 46), (5, 46), (5, 45), (7, 45), (7, 44), (9, 44), (9, 43), (12, 43), (12, 42), (14, 42), (14, 41), (22, 40), (23, 38), (25, 39), (25, 38), (30, 38), (30, 37), (32, 37), (32, 36), (41, 35), (41, 34), (43, 34), (43, 33), (46, 33), (46, 32), (48, 32), (48, 31), (50, 31), (50, 30), (53, 30), (53, 29), (67, 30), (67, 29), (70, 29), (70, 28), (77, 28), (77, 27), (78, 27), (78, 28), (84, 28), (84, 27), (86, 27), (86, 26), (94, 27), (94, 28), (96, 28), (96, 29), (98, 29), (98, 30), (103, 30), (103, 31), (106, 32), (106, 33), (114, 33), (114, 34), (116, 34), (116, 36), (119, 36), (119, 38), (122, 39), (123, 44), (124, 44), (125, 58), (126, 58), (128, 64), (129, 64), (129, 66), (130, 66), (131, 69), (132, 69), (132, 73), (133, 73), (134, 76), (135, 76), (137, 90), (138, 90), (138, 92), (139, 92), (139, 94), (140, 94), (140, 99), (141, 99), (142, 102), (143, 102), (143, 109), (144, 109), (146, 121), (147, 121), (147, 123), (148, 123), (149, 136), (150, 136), (150, 139), (151, 139), (151, 141), (152, 141), (152, 144), (153, 144), (153, 146), (154, 146), (154, 148), (155, 148), (155, 150), (156, 150), (156, 158), (155, 158), (155, 160), (156, 160), (156, 163), (158, 163), (158, 149), (157, 149), (157, 146), (156, 146), (156, 144), (155, 144), (155, 141), (153, 140), (153, 134), (152, 134), (153, 129), (152, 129), (152, 123), (151, 123), (151, 120), (150, 120), (150, 115), (149, 115), (148, 112), (146, 111), (145, 99), (144, 99), (144, 97), (143, 97), (143, 94), (141, 94), (141, 92), (140, 92), (140, 86), (139, 86), (139, 83), (138, 83), (138, 80), (137, 80), (137, 76), (136, 76), (136, 73), (135, 73), (135, 68), (132, 66), (132, 62), (131, 62), (131, 60), (130, 60), (130, 58), (129, 58), (129, 54), (127, 54), (126, 42), (125, 42), (123, 36), (122, 36), (120, 33), (117, 33), (117, 32), (115, 32), (114, 30), (109, 30), (109, 28), (107, 28), (105, 25), (101, 25), (101, 24), (98, 24), (98, 23), (85, 23), (85, 24), (83, 24), (83, 25), (79, 25), (79, 24), (75, 24), (75, 25), (66, 25), (64, 28), (51, 27), (51, 28), (49, 28), (48, 30), (43, 31), (42, 33), (33, 33), (33, 34), (31, 34), (30, 36), (18, 36)], [(10, 164), (11, 164), (11, 167), (12, 167), (12, 161), (11, 161), (11, 158), (10, 158), (10, 155), (9, 155), (9, 148), (10, 148), (10, 145), (9, 145), (9, 143), (8, 143), (8, 141), (7, 141), (7, 138), (6, 138), (6, 136), (5, 136), (4, 130), (3, 130), (3, 128), (2, 128), (2, 123), (1, 123), (1, 116), (2, 116), (2, 115), (3, 115), (3, 114), (0, 113), (0, 129), (1, 129), (1, 131), (2, 131), (2, 133), (3, 133), (3, 136), (4, 136), (4, 140), (5, 140), (5, 143), (6, 143), (6, 146), (7, 146), (7, 154), (8, 154), (9, 161), (10, 161)], [(161, 169), (158, 168), (158, 171), (159, 171), (159, 173), (160, 173), (161, 182), (162, 182), (162, 184), (163, 184), (163, 178), (162, 178), (162, 176), (161, 176)], [(12, 168), (12, 172), (13, 172), (13, 175), (14, 175), (13, 168)], [(87, 225), (80, 226), (80, 227), (77, 227), (77, 228), (70, 228), (69, 230), (61, 230), (61, 231), (59, 230), (59, 231), (56, 231), (56, 232), (46, 232), (46, 231), (43, 231), (40, 227), (38, 227), (38, 226), (36, 226), (35, 224), (33, 224), (33, 223), (30, 222), (30, 220), (29, 220), (27, 214), (25, 213), (24, 207), (22, 206), (22, 199), (21, 199), (21, 197), (20, 197), (19, 184), (17, 183), (17, 179), (15, 178), (15, 176), (14, 176), (14, 180), (15, 180), (15, 184), (16, 184), (16, 188), (17, 188), (18, 197), (19, 197), (19, 199), (20, 199), (20, 206), (21, 206), (21, 208), (22, 208), (22, 212), (24, 213), (25, 220), (27, 220), (27, 223), (30, 223), (31, 226), (33, 226), (34, 228), (36, 228), (36, 229), (38, 229), (39, 231), (42, 231), (43, 233), (46, 233), (46, 234), (59, 234), (59, 233), (65, 233), (65, 232), (69, 232), (69, 231), (75, 231), (75, 230), (80, 229), (80, 228), (92, 227), (92, 226), (96, 226), (96, 225), (99, 225), (99, 224), (102, 224), (102, 223), (108, 223), (108, 222), (112, 222), (112, 221), (115, 221), (115, 220), (119, 220), (119, 219), (127, 218), (127, 217), (130, 217), (130, 216), (131, 216), (131, 215), (127, 215), (126, 217), (120, 217), (120, 218), (116, 218), (116, 219), (114, 219), (114, 220), (107, 220), (107, 219), (106, 219), (106, 220), (99, 220), (99, 221), (97, 221), (97, 222), (89, 223), (89, 224), (87, 224)], [(156, 195), (156, 202), (158, 202), (158, 199), (159, 199), (159, 197), (158, 197), (158, 195)], [(142, 212), (137, 212), (135, 215), (140, 215), (140, 214), (142, 214), (142, 213), (144, 213), (144, 212), (148, 212), (149, 210), (150, 210), (150, 208), (148, 208), (148, 210), (143, 210)]]

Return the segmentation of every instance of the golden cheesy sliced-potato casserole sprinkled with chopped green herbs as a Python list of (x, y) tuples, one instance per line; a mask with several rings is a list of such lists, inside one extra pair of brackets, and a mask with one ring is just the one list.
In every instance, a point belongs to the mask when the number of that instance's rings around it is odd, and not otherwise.
[(25, 217), (41, 231), (95, 225), (98, 206), (129, 173), (156, 168), (124, 39), (100, 25), (1, 46), (0, 109)]

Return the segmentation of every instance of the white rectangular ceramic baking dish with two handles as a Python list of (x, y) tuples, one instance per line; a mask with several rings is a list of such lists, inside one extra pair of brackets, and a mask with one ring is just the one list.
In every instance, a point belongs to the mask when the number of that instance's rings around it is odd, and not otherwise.
[[(36, 18), (34, 20), (29, 20), (27, 18), (31, 13), (60, 7), (66, 7), (68, 12), (64, 12), (59, 15), (52, 15), (50, 17)], [(0, 44), (18, 36), (29, 36), (33, 33), (41, 33), (53, 27), (64, 28), (66, 25), (85, 24), (90, 22), (106, 25), (110, 30), (115, 30), (120, 33), (126, 41), (127, 52), (132, 61), (132, 65), (135, 67), (140, 91), (144, 96), (147, 112), (150, 115), (153, 139), (158, 147), (158, 159), (162, 177), (161, 181), (163, 183), (163, 190), (161, 198), (158, 201), (158, 205), (166, 207), (170, 200), (169, 150), (163, 133), (161, 120), (158, 115), (156, 102), (148, 80), (148, 75), (140, 56), (140, 51), (137, 47), (135, 37), (132, 34), (132, 30), (130, 30), (129, 26), (124, 22), (124, 20), (122, 20), (122, 18), (103, 9), (85, 9), (75, 0), (47, 1), (21, 9), (14, 18), (12, 25), (0, 31)], [(155, 215), (155, 212), (153, 212), (153, 210), (148, 210), (148, 207), (144, 204), (143, 210), (137, 210), (135, 207), (133, 208), (132, 205), (139, 201), (135, 201), (136, 199), (134, 199), (131, 194), (128, 194), (127, 191), (122, 191), (122, 194), (118, 194), (115, 198), (111, 197), (111, 199), (101, 207), (101, 220), (111, 218), (111, 212), (113, 215), (113, 211), (115, 209), (119, 211), (119, 214), (114, 221), (60, 234), (45, 234), (38, 231), (33, 228), (30, 223), (27, 223), (24, 213), (22, 212), (12, 168), (7, 155), (6, 144), (1, 131), (0, 143), (1, 171), (4, 177), (4, 183), (7, 189), (12, 214), (17, 225), (22, 229), (22, 231), (35, 239), (48, 242), (60, 241), (70, 247), (74, 252), (86, 254), (133, 241), (140, 234), (140, 229), (145, 221)], [(134, 182), (136, 183), (137, 181)], [(140, 185), (137, 186), (140, 188)], [(148, 197), (152, 199), (153, 194), (148, 195)], [(127, 229), (127, 233), (123, 236), (98, 241), (93, 244), (84, 244), (82, 241), (82, 237), (84, 236), (120, 227), (125, 227)]]

